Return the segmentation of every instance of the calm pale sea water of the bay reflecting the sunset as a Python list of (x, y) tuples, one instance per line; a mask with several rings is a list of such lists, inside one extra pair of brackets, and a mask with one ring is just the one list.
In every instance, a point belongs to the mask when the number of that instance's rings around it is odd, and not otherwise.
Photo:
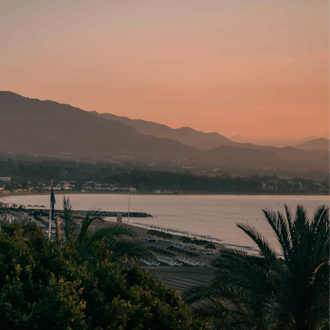
[[(56, 208), (62, 208), (63, 195), (55, 195)], [(129, 195), (69, 195), (75, 210), (101, 208), (106, 211), (127, 212)], [(47, 195), (12, 196), (0, 199), (5, 203), (28, 205), (50, 204)], [(157, 226), (173, 233), (190, 237), (212, 239), (226, 245), (254, 249), (251, 239), (236, 227), (236, 223), (249, 223), (263, 233), (276, 247), (270, 225), (263, 216), (263, 209), (285, 212), (284, 203), (292, 211), (303, 204), (312, 216), (322, 204), (329, 206), (329, 196), (270, 196), (270, 195), (131, 195), (131, 212), (152, 214), (149, 218), (130, 218), (129, 222), (150, 228)], [(123, 218), (126, 221), (127, 218)]]

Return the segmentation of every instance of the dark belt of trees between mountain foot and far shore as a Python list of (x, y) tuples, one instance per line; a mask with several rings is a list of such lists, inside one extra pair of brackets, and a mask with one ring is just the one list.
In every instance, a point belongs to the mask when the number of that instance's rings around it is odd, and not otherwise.
[[(139, 168), (116, 168), (112, 170), (109, 163), (69, 162), (69, 161), (43, 161), (28, 162), (14, 161), (12, 159), (0, 159), (0, 176), (13, 177), (12, 183), (5, 184), (7, 189), (39, 187), (43, 184), (50, 185), (61, 181), (70, 181), (75, 190), (87, 189), (85, 185), (94, 188), (95, 183), (113, 184), (119, 187), (137, 188), (138, 191), (153, 190), (178, 190), (192, 192), (320, 192), (320, 188), (314, 185), (314, 181), (303, 177), (285, 179), (272, 176), (245, 176), (232, 177), (222, 173), (215, 177), (208, 175), (193, 175), (185, 172), (173, 172), (169, 170), (142, 170)], [(181, 169), (182, 170), (182, 169)], [(293, 173), (292, 173), (293, 175)], [(264, 184), (264, 186), (263, 186)], [(329, 180), (322, 182), (322, 192), (329, 188)], [(1, 186), (1, 182), (0, 182)], [(302, 189), (303, 188), (303, 189)]]

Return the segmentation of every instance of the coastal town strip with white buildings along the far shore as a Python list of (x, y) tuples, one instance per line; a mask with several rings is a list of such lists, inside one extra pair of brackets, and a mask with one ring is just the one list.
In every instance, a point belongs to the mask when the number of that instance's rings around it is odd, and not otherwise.
[[(183, 193), (225, 193), (225, 192), (250, 192), (250, 193), (312, 193), (323, 194), (329, 190), (329, 180), (314, 181), (306, 179), (305, 177), (285, 177), (285, 176), (264, 176), (252, 175), (251, 177), (243, 177), (242, 175), (219, 175), (217, 177), (201, 177), (195, 176), (199, 184), (187, 186), (184, 184), (186, 174), (177, 174), (178, 179), (175, 184), (170, 181), (164, 181), (162, 173), (153, 173), (154, 178), (146, 178), (141, 175), (140, 178), (136, 176), (133, 181), (138, 182), (137, 188), (135, 186), (124, 186), (126, 181), (129, 181), (130, 173), (121, 174), (121, 182), (107, 183), (104, 181), (118, 181), (111, 177), (98, 181), (58, 181), (55, 182), (53, 190), (58, 192), (148, 192), (154, 194), (183, 194)], [(165, 173), (166, 175), (166, 173)], [(173, 175), (172, 175), (173, 176)], [(189, 175), (193, 178), (193, 176)], [(123, 178), (124, 177), (124, 178)], [(182, 183), (180, 184), (180, 179)], [(162, 183), (159, 183), (162, 181)], [(203, 184), (202, 181), (208, 182)], [(212, 186), (211, 186), (212, 184)], [(0, 177), (0, 195), (9, 195), (12, 193), (43, 193), (50, 190), (50, 185), (38, 182), (33, 183), (27, 181), (24, 177)]]

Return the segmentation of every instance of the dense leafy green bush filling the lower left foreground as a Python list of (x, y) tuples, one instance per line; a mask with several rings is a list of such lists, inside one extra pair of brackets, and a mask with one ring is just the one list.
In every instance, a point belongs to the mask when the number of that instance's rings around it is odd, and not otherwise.
[(83, 261), (34, 225), (1, 230), (1, 330), (206, 329), (173, 289), (125, 259), (111, 263), (103, 241)]

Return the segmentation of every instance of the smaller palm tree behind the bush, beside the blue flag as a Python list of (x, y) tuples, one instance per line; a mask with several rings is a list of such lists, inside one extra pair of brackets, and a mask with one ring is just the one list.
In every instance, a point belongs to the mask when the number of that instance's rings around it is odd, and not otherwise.
[(122, 236), (133, 235), (129, 233), (124, 225), (111, 225), (107, 228), (101, 228), (92, 232), (90, 226), (96, 221), (104, 223), (102, 212), (100, 210), (89, 210), (81, 223), (81, 228), (78, 228), (78, 223), (74, 218), (72, 203), (69, 197), (63, 197), (64, 209), (64, 232), (66, 241), (74, 243), (76, 250), (80, 253), (83, 259), (92, 256), (93, 245), (97, 241), (104, 239), (107, 242), (109, 250), (111, 250), (111, 259), (115, 260), (121, 256), (129, 256), (133, 259), (146, 256), (146, 251), (140, 243), (129, 241)]

